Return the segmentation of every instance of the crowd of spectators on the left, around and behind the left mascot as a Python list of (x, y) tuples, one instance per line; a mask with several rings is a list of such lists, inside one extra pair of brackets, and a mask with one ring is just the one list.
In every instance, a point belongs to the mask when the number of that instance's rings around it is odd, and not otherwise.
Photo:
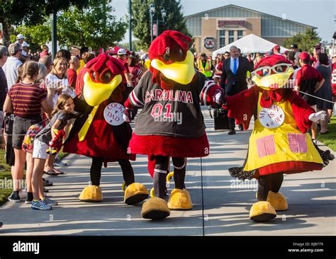
[[(19, 34), (9, 47), (0, 46), (0, 128), (13, 180), (13, 192), (8, 199), (20, 202), (26, 198), (33, 209), (52, 209), (57, 202), (46, 195), (45, 187), (52, 182), (43, 178), (43, 173), (60, 175), (63, 172), (55, 166), (67, 165), (46, 151), (56, 137), (55, 129), (69, 133), (74, 121), (72, 97), (82, 94), (77, 81), (83, 79), (85, 65), (96, 53), (82, 47), (78, 57), (69, 50), (59, 50), (52, 59), (47, 45), (41, 46), (42, 52), (32, 55), (24, 40)], [(136, 86), (147, 70), (147, 56), (140, 58), (120, 47), (108, 50), (108, 54), (124, 64), (125, 86)], [(33, 143), (27, 143), (27, 135), (35, 139)]]

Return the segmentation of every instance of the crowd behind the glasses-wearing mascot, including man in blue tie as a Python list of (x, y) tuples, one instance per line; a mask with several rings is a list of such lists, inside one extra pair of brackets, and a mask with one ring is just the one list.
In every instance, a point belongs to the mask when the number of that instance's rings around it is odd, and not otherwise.
[[(281, 47), (275, 45), (272, 50), (264, 54), (246, 54), (242, 57), (238, 47), (230, 47), (230, 52), (218, 54), (215, 59), (207, 57), (206, 53), (199, 56), (194, 53), (195, 68), (203, 73), (208, 79), (225, 90), (227, 96), (234, 96), (247, 89), (251, 85), (250, 74), (259, 64), (262, 57), (279, 54), (288, 59), (295, 72), (291, 80), (292, 87), (311, 105), (315, 111), (324, 110), (325, 120), (320, 123), (313, 123), (311, 134), (315, 140), (318, 127), (320, 134), (329, 133), (328, 122), (332, 116), (333, 103), (336, 100), (336, 54), (332, 58), (323, 51), (321, 44), (315, 45), (313, 53), (303, 52), (298, 45), (292, 44), (291, 50), (281, 54)], [(242, 130), (242, 125), (238, 125)], [(230, 131), (228, 134), (235, 134), (235, 120), (230, 119)]]

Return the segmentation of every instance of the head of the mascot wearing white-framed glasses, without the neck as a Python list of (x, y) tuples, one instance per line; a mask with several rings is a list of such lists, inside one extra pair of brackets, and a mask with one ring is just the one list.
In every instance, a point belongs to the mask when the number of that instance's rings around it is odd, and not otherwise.
[(273, 54), (262, 58), (254, 67), (252, 81), (266, 90), (282, 88), (294, 73), (291, 62), (286, 57)]

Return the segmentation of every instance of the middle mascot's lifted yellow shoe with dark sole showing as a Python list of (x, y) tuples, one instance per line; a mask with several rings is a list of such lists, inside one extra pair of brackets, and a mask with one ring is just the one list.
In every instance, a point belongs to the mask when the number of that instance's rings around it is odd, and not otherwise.
[(152, 197), (143, 203), (141, 215), (144, 219), (164, 219), (170, 215), (170, 209), (165, 200)]

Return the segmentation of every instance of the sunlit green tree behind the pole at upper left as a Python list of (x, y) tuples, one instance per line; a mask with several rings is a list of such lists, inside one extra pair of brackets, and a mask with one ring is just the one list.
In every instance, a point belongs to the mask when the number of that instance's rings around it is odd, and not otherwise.
[[(57, 16), (57, 40), (68, 47), (89, 46), (94, 49), (115, 45), (123, 39), (127, 23), (111, 15), (114, 11), (110, 0), (89, 0), (89, 6), (70, 6)], [(40, 25), (22, 26), (18, 32), (28, 35), (39, 45), (51, 40), (49, 18)]]

